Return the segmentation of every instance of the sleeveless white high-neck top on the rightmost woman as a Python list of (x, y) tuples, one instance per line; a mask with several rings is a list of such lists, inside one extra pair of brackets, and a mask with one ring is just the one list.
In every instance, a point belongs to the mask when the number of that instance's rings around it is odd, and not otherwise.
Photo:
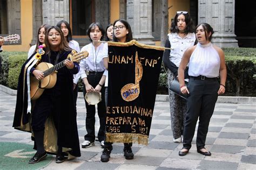
[(195, 77), (203, 75), (212, 78), (219, 76), (219, 70), (220, 56), (212, 43), (206, 45), (198, 43), (190, 56), (188, 75)]

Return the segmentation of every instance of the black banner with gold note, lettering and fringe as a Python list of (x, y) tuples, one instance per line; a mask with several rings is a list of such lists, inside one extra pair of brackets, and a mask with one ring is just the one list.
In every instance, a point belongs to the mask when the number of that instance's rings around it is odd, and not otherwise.
[(147, 145), (164, 47), (108, 42), (106, 141)]

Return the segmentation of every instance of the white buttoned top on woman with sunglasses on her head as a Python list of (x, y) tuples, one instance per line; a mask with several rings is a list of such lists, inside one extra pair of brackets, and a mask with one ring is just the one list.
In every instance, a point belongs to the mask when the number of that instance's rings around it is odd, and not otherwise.
[(181, 58), (188, 47), (194, 45), (196, 36), (194, 33), (188, 33), (186, 37), (179, 37), (178, 33), (169, 33), (169, 41), (171, 44), (170, 61), (179, 67)]

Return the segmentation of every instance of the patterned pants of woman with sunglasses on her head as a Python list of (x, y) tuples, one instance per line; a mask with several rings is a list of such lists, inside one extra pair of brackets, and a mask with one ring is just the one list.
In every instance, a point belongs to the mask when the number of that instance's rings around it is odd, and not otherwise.
[(168, 85), (169, 85), (169, 99), (170, 99), (170, 112), (171, 112), (171, 123), (172, 123), (172, 134), (173, 138), (177, 139), (183, 134), (185, 125), (187, 104), (184, 98), (174, 94), (170, 90), (170, 84), (174, 80), (174, 75), (169, 70), (168, 74)]

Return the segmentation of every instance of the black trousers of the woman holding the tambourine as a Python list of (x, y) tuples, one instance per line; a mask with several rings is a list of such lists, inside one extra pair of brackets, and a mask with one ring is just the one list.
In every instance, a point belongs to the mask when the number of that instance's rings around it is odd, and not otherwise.
[[(87, 75), (87, 80), (91, 84), (93, 88), (95, 88), (100, 79), (102, 79), (103, 72), (97, 72), (94, 74)], [(83, 84), (84, 85), (84, 84)], [(84, 96), (86, 94), (86, 89), (84, 85)], [(105, 138), (105, 126), (106, 126), (106, 106), (105, 106), (105, 87), (104, 84), (102, 86), (102, 101), (97, 104), (98, 116), (99, 116), (99, 131), (98, 131), (98, 139), (99, 141), (103, 141)], [(87, 134), (85, 134), (84, 139), (89, 140), (91, 142), (95, 141), (95, 105), (89, 105), (85, 100), (86, 107), (86, 119), (85, 119), (85, 127)]]

